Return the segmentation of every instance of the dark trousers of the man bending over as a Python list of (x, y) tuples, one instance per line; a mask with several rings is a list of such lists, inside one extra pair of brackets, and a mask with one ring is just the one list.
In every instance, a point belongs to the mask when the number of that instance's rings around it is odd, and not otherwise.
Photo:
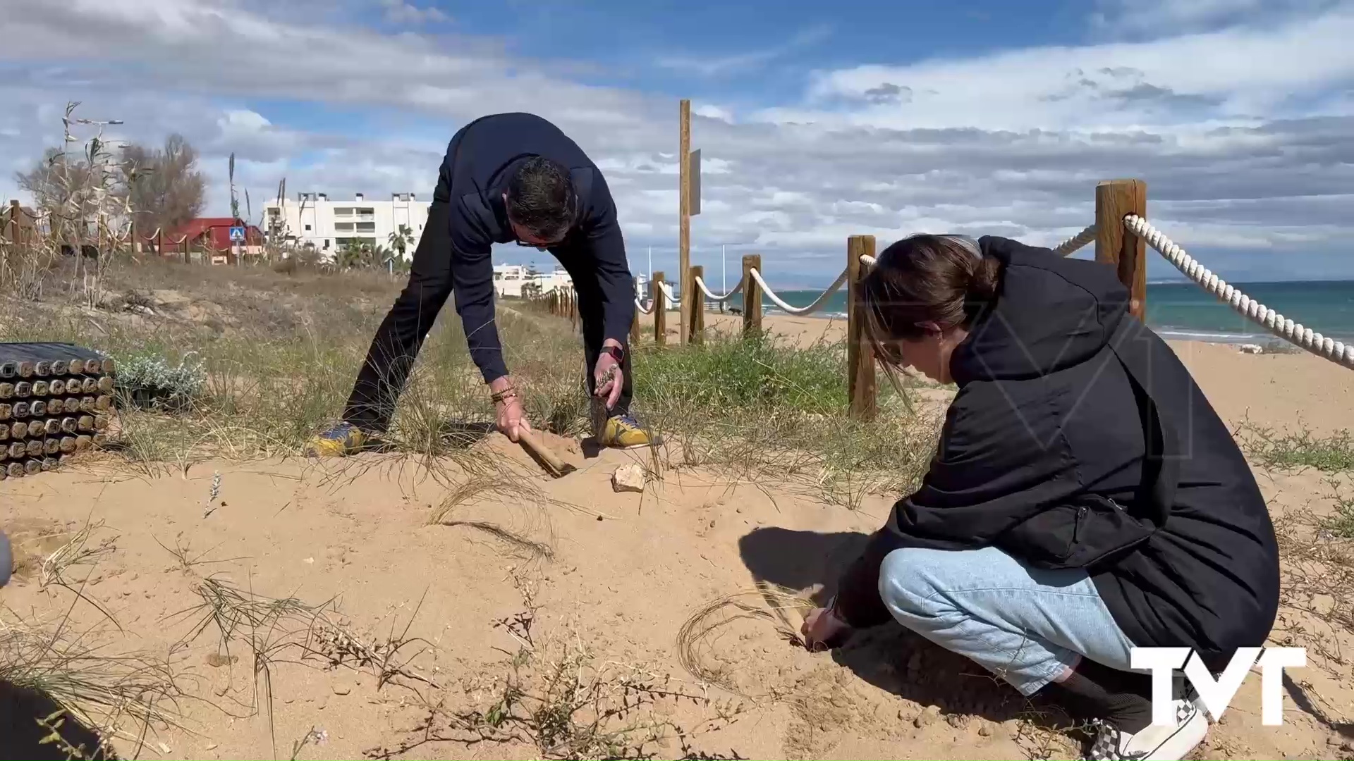
[[(352, 395), (348, 397), (344, 421), (367, 433), (383, 433), (390, 427), (395, 401), (409, 379), (409, 371), (413, 368), (414, 357), (418, 356), (424, 337), (451, 297), (451, 236), (447, 215), (448, 203), (435, 199), (428, 209), (428, 222), (424, 225), (418, 248), (414, 249), (409, 284), (376, 328), (376, 336), (357, 372)], [(567, 249), (558, 253), (567, 263), (565, 269), (578, 292), (578, 317), (584, 332), (584, 356), (588, 362), (588, 391), (592, 393), (596, 387), (593, 368), (597, 366), (605, 339), (601, 288), (597, 286), (597, 274), (590, 261), (581, 261), (588, 259), (586, 255), (574, 255)], [(616, 406), (611, 410), (612, 414), (630, 412), (632, 383), (630, 351), (626, 351), (621, 371), (624, 385)]]

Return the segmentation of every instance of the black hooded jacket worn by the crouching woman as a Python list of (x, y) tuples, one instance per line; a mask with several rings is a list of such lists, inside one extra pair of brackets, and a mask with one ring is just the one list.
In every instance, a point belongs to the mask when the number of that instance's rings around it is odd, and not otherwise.
[(1128, 314), (1114, 271), (983, 237), (998, 292), (953, 353), (959, 386), (921, 487), (839, 580), (837, 613), (890, 620), (879, 567), (902, 547), (995, 546), (1085, 569), (1137, 646), (1225, 666), (1262, 646), (1278, 548), (1231, 432), (1175, 352)]

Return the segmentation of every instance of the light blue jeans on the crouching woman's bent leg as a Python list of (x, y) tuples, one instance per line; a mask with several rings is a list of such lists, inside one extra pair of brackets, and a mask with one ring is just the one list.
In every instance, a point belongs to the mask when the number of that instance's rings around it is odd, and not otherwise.
[(1128, 636), (1080, 570), (1029, 567), (995, 547), (894, 550), (879, 594), (898, 623), (1006, 680), (1021, 695), (1080, 657), (1129, 670)]

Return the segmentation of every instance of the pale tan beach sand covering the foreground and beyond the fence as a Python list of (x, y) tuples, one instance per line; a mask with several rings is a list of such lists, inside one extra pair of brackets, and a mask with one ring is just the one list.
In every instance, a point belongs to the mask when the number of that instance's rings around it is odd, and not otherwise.
[[(735, 321), (709, 316), (711, 325)], [(768, 325), (798, 341), (841, 329), (839, 321), (798, 318)], [(1300, 420), (1313, 431), (1354, 428), (1354, 374), (1346, 370), (1304, 355), (1173, 345), (1233, 425), (1248, 416), (1290, 431)], [(19, 552), (16, 578), (0, 601), (24, 617), (69, 609), (79, 626), (104, 622), (70, 590), (80, 589), (125, 630), (103, 624), (114, 651), (142, 649), (172, 659), (195, 696), (180, 703), (185, 729), (150, 738), (142, 757), (567, 757), (556, 745), (562, 735), (551, 731), (562, 724), (547, 720), (558, 714), (538, 712), (535, 723), (504, 718), (515, 714), (504, 711), (502, 680), (516, 668), (527, 692), (542, 688), (551, 664), (573, 664), (581, 650), (594, 655), (592, 666), (578, 684), (554, 691), (563, 696), (555, 705), (574, 703), (578, 723), (588, 723), (592, 704), (619, 705), (621, 685), (630, 685), (632, 701), (658, 688), (686, 696), (603, 724), (608, 731), (659, 720), (681, 726), (685, 739), (669, 731), (649, 746), (657, 758), (1074, 757), (1062, 735), (1040, 729), (1037, 707), (896, 627), (844, 651), (811, 654), (784, 635), (798, 628), (798, 611), (783, 611), (784, 619), (749, 615), (697, 639), (686, 665), (707, 681), (684, 668), (678, 635), (703, 605), (758, 581), (818, 592), (883, 521), (890, 496), (848, 510), (700, 470), (665, 470), (643, 494), (613, 493), (617, 467), (639, 464), (653, 474), (645, 452), (589, 456), (577, 441), (547, 436), (546, 443), (580, 470), (550, 478), (520, 447), (493, 436), (477, 444), (475, 460), (498, 463), (492, 479), (448, 466), (443, 482), (409, 459), (364, 455), (320, 464), (203, 463), (154, 475), (95, 460), (73, 473), (0, 482), (0, 524)], [(513, 470), (504, 475), (501, 463)], [(209, 502), (215, 474), (219, 496)], [(1280, 519), (1331, 509), (1320, 474), (1258, 474)], [(68, 569), (70, 588), (43, 586), (41, 557), (89, 521), (99, 528), (88, 546), (107, 540), (111, 548), (96, 565)], [(1305, 559), (1289, 558), (1288, 570)], [(195, 634), (202, 611), (194, 607), (209, 578), (253, 594), (334, 603), (324, 616), (241, 626), (223, 645), (210, 622)], [(770, 611), (757, 594), (738, 600)], [(1289, 603), (1275, 643), (1293, 638), (1320, 642), (1328, 654), (1354, 651), (1354, 634), (1330, 628), (1297, 597)], [(705, 623), (728, 612), (720, 608)], [(334, 632), (367, 647), (341, 647)], [(380, 647), (391, 638), (408, 645), (391, 654)], [(250, 640), (269, 654), (267, 670), (256, 673)], [(1252, 676), (1200, 757), (1350, 758), (1350, 662), (1309, 658), (1285, 695), (1284, 726), (1261, 724), (1261, 682)], [(390, 678), (378, 687), (380, 673)], [(271, 727), (268, 712), (255, 708), (260, 682), (271, 685)], [(532, 707), (529, 697), (520, 704)], [(15, 753), (5, 743), (0, 760), (43, 758), (31, 746)]]

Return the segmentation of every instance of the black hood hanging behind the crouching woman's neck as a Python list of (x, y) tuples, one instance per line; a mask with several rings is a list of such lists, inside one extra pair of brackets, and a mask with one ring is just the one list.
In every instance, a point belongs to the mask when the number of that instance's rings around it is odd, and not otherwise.
[(951, 357), (960, 387), (1076, 366), (1105, 348), (1128, 318), (1128, 288), (1110, 267), (994, 236), (978, 245), (1003, 267), (997, 298)]

